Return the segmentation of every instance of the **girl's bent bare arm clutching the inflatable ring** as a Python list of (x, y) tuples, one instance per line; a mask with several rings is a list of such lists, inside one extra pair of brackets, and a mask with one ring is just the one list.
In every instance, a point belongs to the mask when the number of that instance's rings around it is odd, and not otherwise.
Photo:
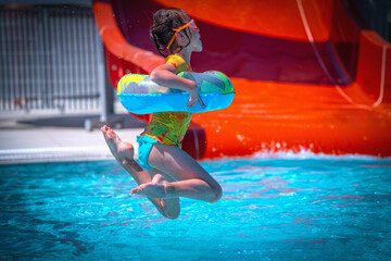
[(205, 107), (200, 98), (195, 82), (191, 79), (182, 78), (177, 74), (178, 74), (178, 70), (174, 66), (174, 64), (165, 63), (159, 65), (152, 71), (151, 80), (163, 87), (189, 91), (190, 99), (187, 103), (187, 107), (195, 105), (197, 101), (200, 101), (200, 104), (202, 107)]

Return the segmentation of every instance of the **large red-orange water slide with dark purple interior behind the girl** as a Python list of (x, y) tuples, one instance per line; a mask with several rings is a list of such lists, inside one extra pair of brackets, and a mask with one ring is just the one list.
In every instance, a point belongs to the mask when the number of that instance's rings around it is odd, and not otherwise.
[(149, 27), (167, 7), (200, 27), (193, 70), (224, 72), (237, 92), (228, 109), (194, 114), (184, 140), (193, 158), (391, 156), (391, 45), (364, 25), (354, 1), (96, 0), (114, 87), (164, 62)]

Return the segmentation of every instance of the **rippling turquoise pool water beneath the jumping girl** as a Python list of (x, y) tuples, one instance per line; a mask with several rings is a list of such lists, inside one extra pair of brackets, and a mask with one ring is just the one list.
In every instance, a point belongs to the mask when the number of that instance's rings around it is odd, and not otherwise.
[(0, 165), (0, 260), (391, 260), (391, 160), (226, 159), (163, 219), (114, 161)]

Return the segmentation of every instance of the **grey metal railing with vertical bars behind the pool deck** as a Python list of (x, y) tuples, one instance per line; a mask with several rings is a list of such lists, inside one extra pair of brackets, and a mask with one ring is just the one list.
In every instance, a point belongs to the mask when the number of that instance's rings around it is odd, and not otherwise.
[(0, 9), (0, 111), (100, 107), (102, 42), (91, 9)]

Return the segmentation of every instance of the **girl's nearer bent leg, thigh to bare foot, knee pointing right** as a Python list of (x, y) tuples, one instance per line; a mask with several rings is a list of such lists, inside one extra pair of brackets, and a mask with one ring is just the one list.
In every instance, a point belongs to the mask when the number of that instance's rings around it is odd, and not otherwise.
[(177, 182), (168, 182), (156, 174), (151, 183), (133, 189), (151, 198), (186, 197), (206, 202), (216, 202), (222, 197), (219, 184), (188, 153), (177, 146), (154, 144), (148, 164), (171, 175)]

